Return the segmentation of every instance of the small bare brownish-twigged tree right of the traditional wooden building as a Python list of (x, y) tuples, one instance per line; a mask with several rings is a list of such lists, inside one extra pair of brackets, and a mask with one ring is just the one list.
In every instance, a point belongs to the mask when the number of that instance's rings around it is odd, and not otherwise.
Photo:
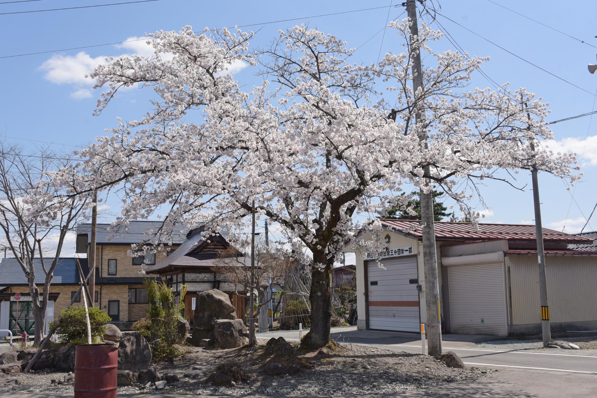
[[(230, 283), (236, 284), (237, 290), (251, 291), (251, 237), (238, 237), (231, 239), (233, 245), (230, 245), (223, 251), (215, 262), (213, 272), (219, 275), (226, 275)], [(255, 240), (255, 290), (259, 303), (257, 304), (257, 313), (261, 313), (261, 307), (272, 300), (267, 298), (267, 279), (271, 281), (282, 281), (293, 266), (296, 266), (290, 254), (283, 248), (277, 246), (267, 246), (264, 238)], [(261, 324), (261, 319), (260, 319)]]

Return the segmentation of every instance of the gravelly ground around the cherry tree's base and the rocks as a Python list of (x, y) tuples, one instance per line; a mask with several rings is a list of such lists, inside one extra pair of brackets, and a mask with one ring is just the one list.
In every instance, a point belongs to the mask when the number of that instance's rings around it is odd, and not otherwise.
[[(386, 394), (419, 388), (473, 381), (493, 371), (468, 367), (447, 368), (432, 357), (394, 352), (371, 346), (341, 344), (336, 352), (297, 350), (297, 355), (266, 355), (264, 340), (255, 349), (210, 350), (189, 347), (181, 359), (173, 363), (159, 363), (162, 375), (177, 374), (182, 381), (167, 386), (164, 393), (192, 393), (205, 395), (338, 395)], [(293, 344), (295, 345), (295, 344)], [(325, 350), (324, 350), (325, 352)], [(266, 363), (281, 362), (298, 365), (303, 372), (296, 376), (265, 375)], [(250, 380), (233, 387), (205, 384), (214, 367), (221, 363), (238, 365), (250, 374)], [(0, 383), (0, 391), (14, 393), (69, 393), (72, 385), (52, 385), (51, 379), (63, 379), (63, 373), (37, 372), (17, 375), (20, 385)], [(0, 380), (1, 381), (1, 380)], [(119, 387), (118, 393), (156, 393), (154, 387)]]

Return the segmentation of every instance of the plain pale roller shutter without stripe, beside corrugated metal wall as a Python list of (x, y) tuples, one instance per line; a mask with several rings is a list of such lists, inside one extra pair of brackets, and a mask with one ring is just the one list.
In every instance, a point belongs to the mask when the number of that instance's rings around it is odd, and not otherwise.
[(448, 267), (453, 333), (507, 335), (501, 263)]

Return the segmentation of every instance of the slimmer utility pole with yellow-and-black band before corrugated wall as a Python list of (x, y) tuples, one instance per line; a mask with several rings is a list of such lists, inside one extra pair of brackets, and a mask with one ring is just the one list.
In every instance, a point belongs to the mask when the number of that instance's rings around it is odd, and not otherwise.
[[(535, 144), (531, 141), (531, 149)], [(539, 201), (539, 182), (537, 180), (537, 164), (531, 169), (533, 178), (533, 203), (535, 206), (535, 228), (537, 235), (537, 261), (539, 263), (539, 296), (541, 305), (541, 332), (543, 333), (543, 347), (549, 346), (552, 331), (549, 326), (549, 304), (547, 304), (547, 279), (545, 277), (545, 250), (543, 247), (543, 225), (541, 225), (541, 203)]]

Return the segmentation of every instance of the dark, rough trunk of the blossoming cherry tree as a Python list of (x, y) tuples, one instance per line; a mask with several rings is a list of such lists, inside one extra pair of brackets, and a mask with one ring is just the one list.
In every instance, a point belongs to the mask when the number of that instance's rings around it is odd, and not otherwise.
[(310, 347), (323, 347), (330, 342), (332, 317), (332, 269), (334, 259), (326, 259), (323, 251), (313, 253), (313, 263), (325, 264), (323, 270), (311, 270), (311, 329), (304, 336), (301, 344)]

